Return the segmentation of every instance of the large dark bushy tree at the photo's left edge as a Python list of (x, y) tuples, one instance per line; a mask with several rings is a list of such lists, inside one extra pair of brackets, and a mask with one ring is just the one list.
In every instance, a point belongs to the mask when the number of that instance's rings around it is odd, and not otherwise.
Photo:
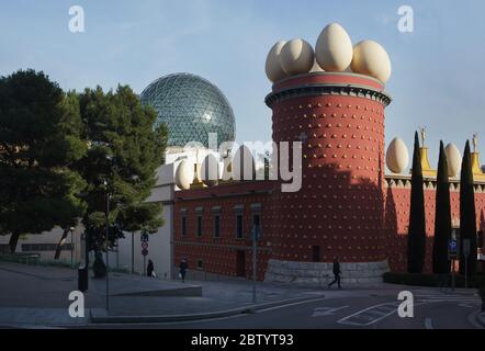
[(0, 223), (15, 252), (22, 234), (72, 226), (84, 182), (69, 165), (86, 147), (75, 102), (43, 72), (0, 78)]

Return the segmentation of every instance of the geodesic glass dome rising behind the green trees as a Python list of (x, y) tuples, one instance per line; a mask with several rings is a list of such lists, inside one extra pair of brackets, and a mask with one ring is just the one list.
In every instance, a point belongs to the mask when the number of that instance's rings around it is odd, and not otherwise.
[(168, 146), (199, 141), (208, 147), (208, 133), (217, 133), (219, 145), (234, 141), (235, 118), (229, 102), (216, 86), (201, 77), (161, 77), (142, 92), (140, 99), (157, 111), (157, 124), (167, 124)]

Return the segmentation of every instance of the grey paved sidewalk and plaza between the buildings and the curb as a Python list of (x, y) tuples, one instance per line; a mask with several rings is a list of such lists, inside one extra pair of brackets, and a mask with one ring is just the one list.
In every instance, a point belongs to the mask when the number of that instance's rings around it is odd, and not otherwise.
[[(110, 308), (106, 313), (106, 281), (90, 279), (84, 294), (84, 318), (70, 318), (68, 295), (77, 290), (77, 270), (0, 262), (0, 326), (80, 326), (90, 322), (174, 321), (216, 318), (251, 313), (286, 304), (322, 298), (388, 296), (403, 290), (436, 293), (433, 288), (382, 284), (376, 288), (327, 290), (279, 283), (162, 281), (140, 275), (110, 273)], [(345, 287), (345, 286), (343, 286)], [(456, 294), (472, 291), (456, 290)]]

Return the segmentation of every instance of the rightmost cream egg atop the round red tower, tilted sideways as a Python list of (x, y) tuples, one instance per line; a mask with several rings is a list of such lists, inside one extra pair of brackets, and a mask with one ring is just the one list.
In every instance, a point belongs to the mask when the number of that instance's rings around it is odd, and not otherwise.
[(373, 41), (363, 41), (353, 47), (352, 71), (371, 76), (385, 83), (391, 78), (391, 58), (385, 48)]

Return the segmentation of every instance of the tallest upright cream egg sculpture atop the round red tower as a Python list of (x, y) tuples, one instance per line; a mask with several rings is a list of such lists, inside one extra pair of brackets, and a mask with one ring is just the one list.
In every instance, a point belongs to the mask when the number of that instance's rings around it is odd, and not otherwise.
[(352, 56), (352, 41), (346, 30), (338, 23), (327, 25), (315, 46), (318, 65), (326, 71), (341, 72), (350, 66)]

